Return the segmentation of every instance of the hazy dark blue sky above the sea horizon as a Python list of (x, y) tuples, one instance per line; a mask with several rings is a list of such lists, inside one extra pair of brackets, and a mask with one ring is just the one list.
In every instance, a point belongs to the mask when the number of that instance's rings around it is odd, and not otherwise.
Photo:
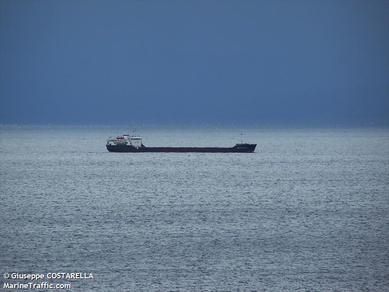
[(0, 1), (2, 124), (388, 124), (389, 1)]

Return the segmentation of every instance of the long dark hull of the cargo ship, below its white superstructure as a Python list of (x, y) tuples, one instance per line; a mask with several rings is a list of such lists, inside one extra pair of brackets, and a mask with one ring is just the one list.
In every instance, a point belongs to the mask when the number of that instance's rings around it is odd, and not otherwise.
[(201, 152), (201, 153), (250, 153), (256, 144), (238, 144), (233, 147), (134, 147), (131, 145), (106, 145), (109, 152)]

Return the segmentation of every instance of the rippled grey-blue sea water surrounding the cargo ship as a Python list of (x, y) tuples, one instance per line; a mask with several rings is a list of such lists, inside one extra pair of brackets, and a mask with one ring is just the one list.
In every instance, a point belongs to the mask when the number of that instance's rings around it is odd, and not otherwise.
[(139, 126), (145, 146), (258, 145), (108, 152), (130, 128), (1, 126), (1, 289), (389, 290), (388, 128)]

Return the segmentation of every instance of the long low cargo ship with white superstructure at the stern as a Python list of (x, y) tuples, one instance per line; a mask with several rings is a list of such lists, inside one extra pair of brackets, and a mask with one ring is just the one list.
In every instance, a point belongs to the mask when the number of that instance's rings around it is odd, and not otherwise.
[(256, 144), (239, 143), (233, 147), (146, 147), (142, 137), (122, 135), (108, 138), (106, 149), (109, 152), (211, 152), (211, 153), (250, 153), (254, 152)]

